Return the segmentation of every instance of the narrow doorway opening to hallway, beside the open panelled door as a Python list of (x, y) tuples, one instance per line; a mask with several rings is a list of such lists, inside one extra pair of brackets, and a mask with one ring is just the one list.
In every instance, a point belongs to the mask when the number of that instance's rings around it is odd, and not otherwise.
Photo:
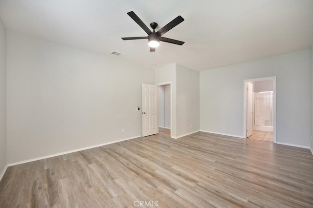
[(171, 137), (172, 126), (172, 90), (171, 83), (157, 84), (158, 134)]

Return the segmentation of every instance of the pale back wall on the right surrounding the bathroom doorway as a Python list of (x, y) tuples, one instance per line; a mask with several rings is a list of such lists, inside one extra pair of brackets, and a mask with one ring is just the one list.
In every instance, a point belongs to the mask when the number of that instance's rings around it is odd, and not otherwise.
[(310, 146), (310, 50), (200, 72), (201, 130), (243, 137), (244, 80), (276, 76), (277, 142)]

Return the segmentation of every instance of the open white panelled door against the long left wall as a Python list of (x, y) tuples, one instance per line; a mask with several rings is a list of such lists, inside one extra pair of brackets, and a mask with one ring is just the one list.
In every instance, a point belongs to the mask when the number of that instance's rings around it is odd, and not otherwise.
[(142, 136), (157, 133), (157, 86), (142, 84)]

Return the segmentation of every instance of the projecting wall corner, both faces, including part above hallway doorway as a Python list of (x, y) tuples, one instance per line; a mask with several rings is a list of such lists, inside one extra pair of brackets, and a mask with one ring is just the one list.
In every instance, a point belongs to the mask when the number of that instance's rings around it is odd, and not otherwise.
[(166, 82), (172, 82), (171, 136), (176, 138), (198, 131), (200, 129), (199, 72), (176, 63), (156, 69), (156, 84)]

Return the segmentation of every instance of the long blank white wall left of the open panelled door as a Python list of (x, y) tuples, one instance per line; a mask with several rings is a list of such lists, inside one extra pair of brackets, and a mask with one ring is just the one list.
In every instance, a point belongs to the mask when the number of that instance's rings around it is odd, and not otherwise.
[(141, 135), (142, 83), (154, 70), (7, 31), (7, 162)]

